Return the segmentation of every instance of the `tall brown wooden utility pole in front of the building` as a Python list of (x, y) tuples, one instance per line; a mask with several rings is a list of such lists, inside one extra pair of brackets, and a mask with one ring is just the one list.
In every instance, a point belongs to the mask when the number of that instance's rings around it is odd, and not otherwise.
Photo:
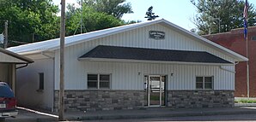
[(64, 43), (65, 43), (65, 0), (61, 0), (60, 48), (59, 48), (59, 95), (58, 120), (64, 120)]

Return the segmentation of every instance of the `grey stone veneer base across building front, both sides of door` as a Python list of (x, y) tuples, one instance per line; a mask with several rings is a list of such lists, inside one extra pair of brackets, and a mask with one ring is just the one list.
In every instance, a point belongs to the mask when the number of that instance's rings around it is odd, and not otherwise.
[[(65, 111), (137, 109), (147, 103), (144, 90), (65, 90)], [(168, 107), (234, 107), (234, 90), (168, 90)], [(54, 111), (58, 111), (55, 90)]]

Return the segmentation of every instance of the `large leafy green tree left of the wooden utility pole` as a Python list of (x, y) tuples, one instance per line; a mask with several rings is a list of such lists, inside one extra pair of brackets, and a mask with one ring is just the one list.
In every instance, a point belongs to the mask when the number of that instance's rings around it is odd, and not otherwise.
[(0, 8), (0, 32), (9, 20), (9, 40), (31, 43), (58, 37), (58, 6), (52, 0), (0, 0)]

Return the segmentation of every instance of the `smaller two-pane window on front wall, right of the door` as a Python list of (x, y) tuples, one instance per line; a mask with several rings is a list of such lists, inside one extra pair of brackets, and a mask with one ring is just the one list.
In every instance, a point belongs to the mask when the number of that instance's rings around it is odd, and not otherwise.
[(213, 89), (213, 77), (196, 77), (196, 88), (201, 90)]

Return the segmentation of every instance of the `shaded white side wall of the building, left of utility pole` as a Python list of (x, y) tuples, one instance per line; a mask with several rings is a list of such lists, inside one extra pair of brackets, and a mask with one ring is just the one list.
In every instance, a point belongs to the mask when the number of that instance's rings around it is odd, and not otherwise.
[[(53, 60), (35, 60), (17, 70), (17, 97), (21, 104), (52, 108), (54, 90)], [(39, 73), (44, 73), (44, 90), (39, 89)]]

